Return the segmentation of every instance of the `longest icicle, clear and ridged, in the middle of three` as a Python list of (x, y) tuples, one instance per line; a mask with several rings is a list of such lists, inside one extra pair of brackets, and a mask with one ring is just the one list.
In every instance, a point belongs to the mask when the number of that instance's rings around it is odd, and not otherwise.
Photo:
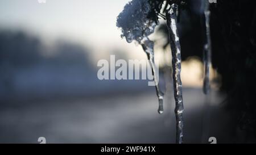
[(173, 3), (166, 11), (167, 27), (170, 37), (170, 45), (172, 52), (172, 78), (174, 81), (174, 98), (175, 98), (175, 115), (176, 115), (176, 143), (183, 143), (183, 98), (182, 83), (180, 79), (181, 72), (181, 53), (179, 35), (177, 32), (177, 7)]

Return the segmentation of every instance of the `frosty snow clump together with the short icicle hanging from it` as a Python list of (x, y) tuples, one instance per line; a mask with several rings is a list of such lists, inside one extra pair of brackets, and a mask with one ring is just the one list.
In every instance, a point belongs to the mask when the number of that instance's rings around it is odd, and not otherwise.
[(148, 36), (154, 32), (158, 24), (158, 12), (160, 12), (162, 1), (155, 0), (133, 0), (125, 6), (125, 9), (118, 15), (117, 27), (122, 30), (122, 37), (128, 43), (133, 40), (142, 45), (144, 52), (152, 68), (155, 81), (156, 95), (158, 97), (159, 114), (163, 113), (163, 93), (159, 89), (158, 75), (155, 74), (154, 42)]

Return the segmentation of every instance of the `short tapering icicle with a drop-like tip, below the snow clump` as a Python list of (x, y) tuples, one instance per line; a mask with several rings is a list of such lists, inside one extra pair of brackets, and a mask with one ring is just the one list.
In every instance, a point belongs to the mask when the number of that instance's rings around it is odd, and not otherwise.
[(158, 103), (159, 103), (159, 108), (158, 108), (158, 113), (162, 114), (163, 113), (163, 93), (160, 91), (159, 88), (159, 82), (158, 82), (158, 77), (155, 75), (155, 61), (154, 61), (154, 42), (149, 40), (148, 37), (144, 37), (142, 40), (142, 48), (144, 52), (147, 54), (147, 58), (150, 61), (150, 65), (152, 68), (152, 74), (154, 76), (154, 81), (155, 81), (155, 89), (156, 89), (156, 95), (158, 97)]

